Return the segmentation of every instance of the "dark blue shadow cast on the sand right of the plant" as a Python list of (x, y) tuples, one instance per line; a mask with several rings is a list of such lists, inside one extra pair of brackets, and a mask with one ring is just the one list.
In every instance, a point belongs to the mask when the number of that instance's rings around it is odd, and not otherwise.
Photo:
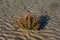
[(48, 15), (40, 16), (39, 17), (39, 23), (40, 23), (40, 25), (39, 25), (38, 30), (44, 29), (45, 26), (48, 24), (49, 20), (50, 20), (50, 17)]

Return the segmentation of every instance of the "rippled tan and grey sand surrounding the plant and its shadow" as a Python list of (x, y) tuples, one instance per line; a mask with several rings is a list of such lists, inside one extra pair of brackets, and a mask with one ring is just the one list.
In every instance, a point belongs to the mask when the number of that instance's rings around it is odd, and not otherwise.
[[(39, 31), (16, 29), (13, 20), (25, 11), (50, 19)], [(60, 40), (60, 0), (0, 0), (0, 40)]]

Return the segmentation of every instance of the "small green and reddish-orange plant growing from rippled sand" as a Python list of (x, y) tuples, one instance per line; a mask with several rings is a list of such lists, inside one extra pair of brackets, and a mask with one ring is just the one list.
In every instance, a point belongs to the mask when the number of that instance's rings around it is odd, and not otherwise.
[(39, 26), (39, 19), (36, 16), (33, 16), (30, 13), (25, 12), (22, 19), (17, 17), (16, 20), (14, 20), (14, 24), (17, 25), (17, 28), (37, 30)]

